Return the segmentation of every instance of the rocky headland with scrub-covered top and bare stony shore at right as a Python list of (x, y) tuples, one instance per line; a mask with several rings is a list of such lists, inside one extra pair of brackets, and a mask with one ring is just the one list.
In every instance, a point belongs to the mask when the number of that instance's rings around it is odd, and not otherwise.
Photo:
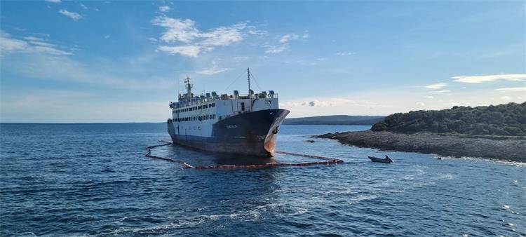
[(526, 102), (397, 113), (370, 130), (315, 137), (356, 147), (526, 163)]

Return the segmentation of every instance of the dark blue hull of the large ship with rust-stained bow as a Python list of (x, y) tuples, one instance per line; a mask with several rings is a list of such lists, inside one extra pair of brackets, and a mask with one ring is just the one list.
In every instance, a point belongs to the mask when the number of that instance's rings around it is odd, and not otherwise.
[(276, 134), (286, 109), (266, 109), (224, 118), (213, 125), (211, 137), (177, 135), (168, 121), (168, 133), (175, 144), (224, 154), (274, 156)]

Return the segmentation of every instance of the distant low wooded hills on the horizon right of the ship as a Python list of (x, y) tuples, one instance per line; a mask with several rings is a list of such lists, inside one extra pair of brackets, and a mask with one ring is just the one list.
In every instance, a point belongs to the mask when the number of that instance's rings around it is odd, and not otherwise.
[(310, 124), (310, 125), (372, 125), (381, 121), (385, 116), (349, 116), (330, 115), (305, 118), (286, 118), (285, 124)]

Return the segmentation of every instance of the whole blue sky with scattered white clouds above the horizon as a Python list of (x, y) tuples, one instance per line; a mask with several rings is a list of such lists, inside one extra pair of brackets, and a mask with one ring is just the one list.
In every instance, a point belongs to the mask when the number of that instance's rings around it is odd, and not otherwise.
[(524, 1), (0, 1), (1, 122), (161, 122), (194, 92), (289, 117), (526, 100)]

